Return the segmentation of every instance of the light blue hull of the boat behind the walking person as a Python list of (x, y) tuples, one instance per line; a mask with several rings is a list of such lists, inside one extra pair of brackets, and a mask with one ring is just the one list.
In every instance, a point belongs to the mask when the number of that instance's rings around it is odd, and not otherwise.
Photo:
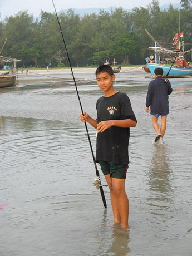
[[(171, 66), (165, 66), (162, 64), (156, 63), (147, 63), (147, 67), (149, 68), (152, 77), (154, 77), (155, 68), (161, 67), (164, 71), (164, 77), (169, 72)], [(180, 68), (180, 67), (171, 67), (169, 72), (169, 77), (190, 77), (192, 76), (192, 68)]]

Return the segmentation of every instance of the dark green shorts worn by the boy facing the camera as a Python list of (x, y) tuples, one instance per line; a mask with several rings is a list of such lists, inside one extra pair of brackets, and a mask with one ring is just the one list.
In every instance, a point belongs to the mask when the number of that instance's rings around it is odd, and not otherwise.
[(111, 178), (126, 179), (127, 164), (115, 164), (111, 161), (98, 161), (104, 175), (110, 174)]

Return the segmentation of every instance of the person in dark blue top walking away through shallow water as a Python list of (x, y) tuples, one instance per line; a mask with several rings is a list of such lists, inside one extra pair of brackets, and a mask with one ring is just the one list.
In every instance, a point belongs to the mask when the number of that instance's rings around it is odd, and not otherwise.
[[(152, 126), (156, 131), (155, 142), (163, 138), (166, 130), (166, 119), (169, 114), (169, 95), (173, 91), (170, 82), (163, 79), (163, 69), (155, 69), (155, 79), (149, 83), (146, 97), (146, 112), (152, 116)], [(158, 118), (161, 116), (161, 128), (158, 124)]]

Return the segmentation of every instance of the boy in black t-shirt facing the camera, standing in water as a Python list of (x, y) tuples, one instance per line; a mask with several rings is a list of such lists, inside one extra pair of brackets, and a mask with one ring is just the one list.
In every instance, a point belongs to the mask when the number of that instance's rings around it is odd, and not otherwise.
[(109, 185), (114, 223), (127, 228), (129, 200), (125, 179), (129, 164), (128, 146), (130, 127), (135, 127), (137, 121), (129, 97), (113, 86), (115, 75), (112, 68), (108, 65), (98, 67), (96, 80), (104, 92), (104, 96), (97, 100), (97, 119), (92, 119), (86, 112), (80, 115), (80, 119), (97, 131), (96, 162)]

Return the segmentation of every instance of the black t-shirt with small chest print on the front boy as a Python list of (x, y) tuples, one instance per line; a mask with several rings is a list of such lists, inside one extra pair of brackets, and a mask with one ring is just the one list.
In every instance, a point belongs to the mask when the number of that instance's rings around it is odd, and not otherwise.
[[(96, 104), (97, 121), (132, 119), (136, 121), (129, 97), (117, 92), (110, 97), (100, 97)], [(96, 161), (129, 164), (130, 128), (111, 126), (97, 135)]]

